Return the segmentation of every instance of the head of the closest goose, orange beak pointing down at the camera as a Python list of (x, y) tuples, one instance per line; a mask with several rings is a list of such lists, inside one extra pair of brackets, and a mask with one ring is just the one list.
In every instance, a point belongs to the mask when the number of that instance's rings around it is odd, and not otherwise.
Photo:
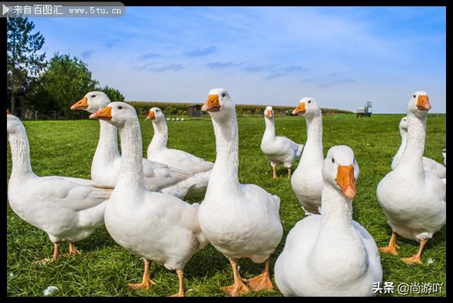
[(345, 145), (337, 145), (328, 150), (323, 163), (324, 182), (331, 183), (345, 198), (352, 201), (355, 194), (355, 182), (359, 177), (359, 166), (354, 158), (354, 151)]

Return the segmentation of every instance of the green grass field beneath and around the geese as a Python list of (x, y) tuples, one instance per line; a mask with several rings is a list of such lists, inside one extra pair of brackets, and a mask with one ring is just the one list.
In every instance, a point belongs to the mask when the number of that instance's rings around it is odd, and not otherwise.
[[(391, 159), (400, 144), (398, 122), (403, 115), (373, 115), (355, 118), (355, 115), (324, 115), (324, 155), (338, 144), (346, 144), (355, 152), (360, 166), (357, 196), (353, 202), (354, 219), (374, 237), (378, 246), (388, 243), (391, 229), (379, 207), (376, 188), (390, 169)], [(153, 135), (151, 122), (140, 117), (144, 156)], [(302, 117), (276, 117), (277, 135), (295, 142), (305, 142), (306, 125)], [(442, 163), (441, 151), (446, 147), (446, 116), (428, 117), (425, 156)], [(98, 121), (25, 121), (30, 140), (33, 170), (38, 176), (57, 175), (90, 178), (91, 159), (98, 142)], [(215, 160), (214, 131), (210, 119), (168, 121), (168, 147), (183, 149), (209, 161)], [(277, 181), (272, 168), (260, 150), (263, 135), (263, 117), (239, 118), (239, 181), (255, 183), (281, 199), (280, 217), (285, 234), (271, 257), (271, 275), (277, 256), (282, 251), (288, 231), (304, 217), (297, 198), (286, 178), (287, 171), (280, 167)], [(11, 154), (8, 148), (8, 178), (11, 173)], [(294, 166), (295, 168), (295, 166)], [(202, 196), (195, 199), (202, 200)], [(50, 285), (58, 287), (57, 296), (166, 296), (178, 291), (175, 272), (163, 266), (151, 265), (151, 279), (157, 285), (148, 291), (129, 290), (125, 285), (142, 279), (142, 258), (132, 255), (110, 238), (104, 227), (77, 244), (79, 256), (61, 258), (50, 265), (34, 265), (33, 261), (52, 254), (53, 245), (45, 234), (23, 222), (8, 206), (7, 295), (41, 296)], [(398, 237), (400, 256), (382, 255), (383, 282), (444, 283), (442, 292), (431, 295), (445, 296), (446, 251), (445, 227), (428, 241), (423, 253), (425, 265), (406, 265), (401, 256), (412, 256), (418, 243)], [(67, 244), (63, 246), (63, 253)], [(427, 261), (433, 261), (428, 263)], [(260, 273), (263, 265), (241, 260), (241, 275), (251, 278)], [(230, 285), (233, 275), (228, 260), (212, 246), (200, 251), (185, 268), (185, 290), (188, 296), (224, 296), (221, 286)], [(412, 294), (417, 295), (417, 294)], [(281, 296), (273, 291), (251, 292), (248, 296)]]

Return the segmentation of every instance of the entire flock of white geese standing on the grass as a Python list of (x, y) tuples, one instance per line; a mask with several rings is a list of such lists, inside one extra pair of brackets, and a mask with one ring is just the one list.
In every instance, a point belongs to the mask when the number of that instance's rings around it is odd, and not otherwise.
[[(354, 151), (337, 145), (323, 156), (323, 122), (316, 99), (300, 99), (292, 112), (305, 118), (305, 144), (276, 136), (275, 113), (271, 106), (265, 108), (260, 149), (270, 161), (273, 178), (278, 178), (277, 166), (287, 168), (306, 215), (287, 234), (275, 262), (275, 284), (283, 295), (375, 295), (373, 285), (382, 282), (379, 251), (398, 255), (398, 235), (420, 243), (413, 256), (402, 260), (423, 264), (423, 248), (444, 226), (446, 215), (446, 150), (443, 165), (423, 156), (430, 108), (427, 93), (413, 93), (407, 117), (399, 125), (401, 146), (391, 171), (377, 185), (377, 201), (392, 229), (389, 245), (382, 248), (352, 219), (360, 173)], [(69, 255), (80, 253), (74, 243), (104, 224), (118, 245), (144, 260), (142, 282), (127, 285), (131, 289), (147, 290), (156, 284), (150, 273), (154, 261), (176, 271), (179, 290), (174, 296), (185, 296), (185, 265), (209, 244), (231, 263), (233, 283), (222, 287), (227, 295), (273, 289), (270, 258), (283, 237), (280, 198), (258, 185), (239, 183), (239, 127), (226, 90), (212, 89), (202, 106), (214, 128), (214, 163), (168, 148), (168, 118), (159, 108), (147, 115), (154, 128), (147, 158), (131, 105), (110, 102), (105, 93), (92, 91), (71, 109), (86, 110), (90, 119), (99, 120), (91, 180), (36, 176), (25, 127), (7, 113), (9, 204), (25, 222), (45, 231), (54, 246), (52, 257), (37, 263), (61, 258), (64, 241), (69, 242)], [(205, 195), (202, 202), (183, 200), (195, 193)], [(243, 258), (263, 263), (263, 272), (243, 279), (238, 269)]]

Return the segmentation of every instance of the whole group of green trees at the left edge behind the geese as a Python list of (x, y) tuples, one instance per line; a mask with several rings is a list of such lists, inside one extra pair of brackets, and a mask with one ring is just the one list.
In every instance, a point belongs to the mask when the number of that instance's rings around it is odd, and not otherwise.
[[(28, 18), (7, 19), (7, 108), (30, 118), (35, 110), (56, 111), (59, 118), (86, 115), (70, 110), (88, 91), (103, 91), (111, 101), (124, 101), (116, 88), (99, 86), (81, 59), (55, 53), (49, 60), (40, 53), (45, 38)], [(20, 109), (20, 110), (19, 110)]]

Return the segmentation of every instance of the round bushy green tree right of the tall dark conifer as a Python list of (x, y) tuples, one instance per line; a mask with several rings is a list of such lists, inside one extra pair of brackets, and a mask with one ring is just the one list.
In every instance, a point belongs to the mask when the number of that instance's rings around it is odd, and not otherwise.
[(50, 59), (47, 70), (40, 76), (40, 84), (38, 95), (50, 99), (41, 99), (42, 105), (52, 106), (47, 109), (57, 110), (59, 115), (67, 117), (76, 116), (70, 110), (74, 102), (98, 87), (98, 81), (91, 78), (91, 71), (84, 62), (58, 53)]

